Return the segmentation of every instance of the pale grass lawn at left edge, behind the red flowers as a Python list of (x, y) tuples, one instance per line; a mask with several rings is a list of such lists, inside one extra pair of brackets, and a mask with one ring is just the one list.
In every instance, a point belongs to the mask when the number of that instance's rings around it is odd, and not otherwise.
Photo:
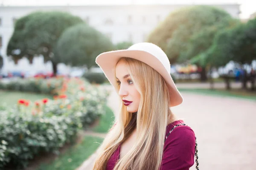
[(52, 96), (48, 94), (34, 94), (34, 93), (27, 93), (27, 92), (0, 90), (0, 105), (3, 103), (6, 103), (7, 105), (14, 105), (14, 104), (17, 104), (18, 99), (28, 99), (34, 102), (38, 99), (43, 99), (43, 98), (52, 99)]

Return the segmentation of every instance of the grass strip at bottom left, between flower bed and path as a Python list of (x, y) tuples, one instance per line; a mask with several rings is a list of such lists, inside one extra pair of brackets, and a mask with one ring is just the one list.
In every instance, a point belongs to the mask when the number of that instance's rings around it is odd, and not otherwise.
[(81, 143), (70, 147), (49, 164), (41, 164), (37, 170), (75, 170), (93, 154), (103, 138), (85, 136)]

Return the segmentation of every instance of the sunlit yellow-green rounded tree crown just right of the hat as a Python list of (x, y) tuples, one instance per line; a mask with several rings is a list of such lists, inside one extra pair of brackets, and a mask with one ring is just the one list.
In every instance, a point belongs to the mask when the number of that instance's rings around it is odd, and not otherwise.
[(230, 15), (227, 12), (212, 6), (182, 8), (169, 14), (151, 32), (147, 41), (160, 46), (173, 63), (186, 54), (189, 40), (193, 35), (209, 26), (222, 23), (228, 17)]

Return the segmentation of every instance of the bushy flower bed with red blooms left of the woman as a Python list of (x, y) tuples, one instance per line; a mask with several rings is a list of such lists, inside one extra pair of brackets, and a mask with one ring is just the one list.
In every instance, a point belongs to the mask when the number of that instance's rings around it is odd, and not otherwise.
[[(26, 86), (30, 86), (26, 87)], [(54, 100), (20, 99), (12, 107), (0, 106), (0, 168), (20, 168), (41, 152), (58, 153), (104, 114), (107, 91), (83, 79), (30, 79), (0, 84), (0, 88), (54, 95)]]

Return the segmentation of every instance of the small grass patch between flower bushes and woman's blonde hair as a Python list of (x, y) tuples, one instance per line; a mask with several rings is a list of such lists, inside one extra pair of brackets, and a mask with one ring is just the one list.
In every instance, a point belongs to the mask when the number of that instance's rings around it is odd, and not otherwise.
[(102, 115), (99, 118), (99, 123), (96, 125), (96, 127), (93, 127), (94, 132), (98, 133), (107, 133), (109, 128), (112, 125), (112, 122), (115, 120), (115, 116), (111, 108), (108, 106), (105, 106), (106, 114)]

